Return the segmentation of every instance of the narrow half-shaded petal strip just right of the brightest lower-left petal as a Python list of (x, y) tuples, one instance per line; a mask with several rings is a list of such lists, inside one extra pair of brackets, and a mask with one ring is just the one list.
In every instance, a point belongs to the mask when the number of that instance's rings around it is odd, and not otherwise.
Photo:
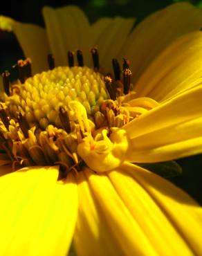
[(122, 256), (122, 249), (102, 214), (102, 208), (95, 202), (84, 172), (78, 177), (79, 210), (74, 235), (77, 256)]

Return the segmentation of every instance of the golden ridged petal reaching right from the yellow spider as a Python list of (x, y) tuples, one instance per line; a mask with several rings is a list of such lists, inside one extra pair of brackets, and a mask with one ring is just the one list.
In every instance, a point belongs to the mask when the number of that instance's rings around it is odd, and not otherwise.
[(202, 152), (202, 86), (181, 93), (125, 125), (127, 161), (151, 163)]

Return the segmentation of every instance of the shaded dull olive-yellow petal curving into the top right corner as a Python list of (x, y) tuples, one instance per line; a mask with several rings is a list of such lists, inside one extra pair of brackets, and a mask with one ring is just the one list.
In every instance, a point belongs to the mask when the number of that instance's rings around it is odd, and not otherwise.
[(128, 45), (125, 46), (125, 54), (131, 60), (134, 81), (163, 48), (181, 35), (200, 29), (201, 14), (202, 10), (189, 3), (176, 3), (141, 22), (131, 33)]

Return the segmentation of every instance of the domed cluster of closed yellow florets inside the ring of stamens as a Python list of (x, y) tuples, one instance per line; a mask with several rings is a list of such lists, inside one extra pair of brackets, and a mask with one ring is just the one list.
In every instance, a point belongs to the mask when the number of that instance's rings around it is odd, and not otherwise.
[(30, 127), (46, 129), (48, 125), (55, 125), (62, 128), (60, 107), (70, 111), (69, 102), (76, 100), (89, 116), (93, 116), (107, 98), (100, 73), (86, 66), (59, 66), (15, 85), (13, 95), (6, 98), (6, 106), (15, 119), (19, 111), (24, 113)]

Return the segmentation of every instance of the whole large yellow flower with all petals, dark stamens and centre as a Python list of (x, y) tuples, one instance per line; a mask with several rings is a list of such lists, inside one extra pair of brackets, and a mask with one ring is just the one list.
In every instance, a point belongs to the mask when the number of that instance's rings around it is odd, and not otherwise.
[[(72, 240), (77, 255), (201, 255), (200, 206), (132, 163), (202, 152), (202, 11), (178, 3), (132, 31), (120, 17), (90, 26), (74, 6), (44, 19), (46, 30), (0, 18), (40, 73), (24, 81), (19, 62), (21, 82), (1, 96), (0, 255), (66, 255)], [(95, 45), (99, 72), (86, 67)], [(77, 49), (86, 66), (68, 68)], [(50, 52), (60, 67), (49, 55), (41, 73)], [(131, 66), (114, 89), (102, 74), (122, 56)]]

